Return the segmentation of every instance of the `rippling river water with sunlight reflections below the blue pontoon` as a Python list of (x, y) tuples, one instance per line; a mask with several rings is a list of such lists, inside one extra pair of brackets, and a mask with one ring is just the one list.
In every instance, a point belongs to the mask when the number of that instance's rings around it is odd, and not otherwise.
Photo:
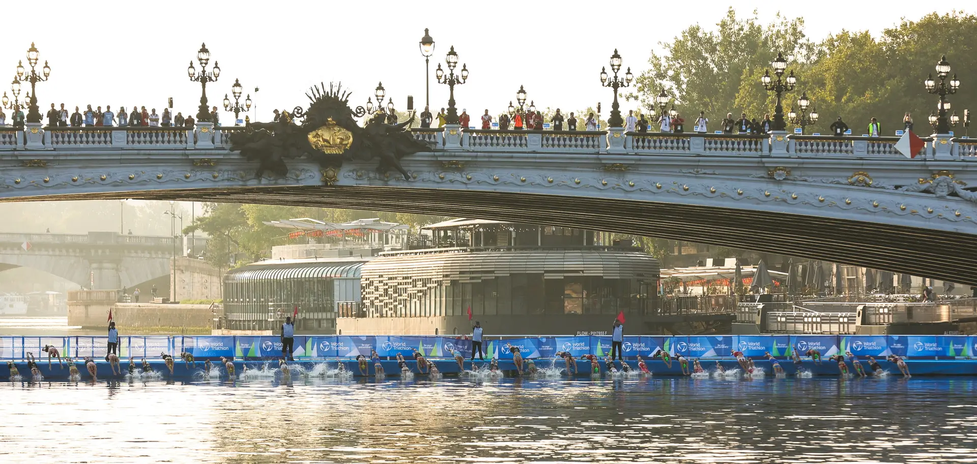
[(970, 378), (292, 378), (0, 381), (0, 462), (977, 459)]

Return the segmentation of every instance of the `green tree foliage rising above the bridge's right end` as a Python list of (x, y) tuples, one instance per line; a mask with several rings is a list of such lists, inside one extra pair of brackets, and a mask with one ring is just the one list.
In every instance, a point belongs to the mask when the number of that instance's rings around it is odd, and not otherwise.
[(756, 12), (740, 19), (730, 9), (715, 30), (693, 25), (660, 44), (664, 53), (652, 54), (651, 69), (636, 78), (635, 91), (626, 97), (647, 108), (664, 88), (683, 114), (705, 111), (711, 128), (727, 112), (761, 119), (774, 112), (776, 101), (763, 89), (760, 76), (782, 52), (798, 78), (795, 91), (785, 96), (785, 113), (806, 92), (820, 114), (808, 134), (828, 134), (828, 126), (841, 116), (855, 135), (865, 133), (871, 117), (891, 135), (902, 129), (906, 112), (913, 114), (915, 132), (928, 134), (926, 117), (936, 109), (937, 99), (926, 93), (922, 81), (942, 55), (962, 81), (957, 94), (949, 97), (953, 109), (962, 117), (963, 108), (974, 104), (977, 82), (968, 79), (977, 75), (975, 35), (977, 17), (933, 13), (903, 20), (878, 36), (841, 30), (813, 43), (805, 36), (803, 19), (778, 16), (760, 24)]

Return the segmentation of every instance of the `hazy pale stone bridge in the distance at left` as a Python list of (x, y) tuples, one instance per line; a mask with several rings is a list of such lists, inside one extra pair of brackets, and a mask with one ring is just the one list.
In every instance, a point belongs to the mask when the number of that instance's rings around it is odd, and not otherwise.
[(96, 290), (114, 290), (170, 275), (173, 238), (0, 233), (0, 271), (30, 267)]

